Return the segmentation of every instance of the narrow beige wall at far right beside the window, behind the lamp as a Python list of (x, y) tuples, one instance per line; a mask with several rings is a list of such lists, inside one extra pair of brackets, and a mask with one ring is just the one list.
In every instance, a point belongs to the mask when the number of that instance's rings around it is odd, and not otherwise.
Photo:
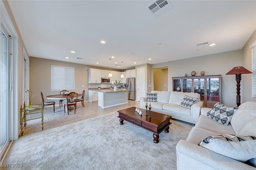
[[(242, 49), (243, 54), (243, 67), (247, 70), (252, 71), (252, 49), (250, 48), (250, 45), (256, 40), (256, 29), (254, 33), (252, 33), (252, 36), (246, 44), (244, 45)], [(252, 74), (242, 74), (242, 82), (243, 85), (243, 94), (242, 94), (242, 100), (244, 102), (247, 101), (254, 101), (256, 102), (255, 98), (252, 98)]]

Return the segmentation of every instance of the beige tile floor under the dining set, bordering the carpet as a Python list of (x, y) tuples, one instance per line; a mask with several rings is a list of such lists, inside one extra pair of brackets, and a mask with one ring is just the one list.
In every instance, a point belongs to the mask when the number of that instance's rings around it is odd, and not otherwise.
[[(64, 113), (64, 111), (53, 112), (53, 106), (44, 108), (44, 130), (52, 129), (55, 127), (60, 127), (63, 125), (67, 125), (70, 123), (74, 123), (77, 121), (81, 121), (84, 119), (89, 119), (91, 117), (96, 117), (98, 115), (103, 115), (107, 113), (111, 113), (113, 111), (125, 109), (128, 107), (140, 107), (139, 101), (128, 100), (128, 104), (123, 104), (120, 106), (114, 106), (102, 109), (98, 106), (98, 102), (90, 103), (84, 102), (84, 107), (82, 107), (81, 102), (77, 104), (76, 114), (74, 114), (74, 109), (70, 110), (68, 113)], [(58, 109), (59, 106), (55, 106), (55, 109)], [(23, 127), (23, 131), (25, 135), (29, 135), (32, 133), (37, 133), (42, 131), (42, 123), (40, 119), (34, 119), (26, 121), (26, 127)], [(24, 122), (23, 122), (24, 124)], [(21, 134), (20, 134), (21, 137)]]

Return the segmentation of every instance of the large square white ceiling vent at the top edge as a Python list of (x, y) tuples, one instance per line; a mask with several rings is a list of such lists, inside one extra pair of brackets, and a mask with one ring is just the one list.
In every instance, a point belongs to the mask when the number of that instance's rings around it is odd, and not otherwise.
[(152, 2), (147, 8), (154, 14), (154, 16), (159, 16), (160, 14), (170, 10), (172, 4), (169, 0), (156, 0)]

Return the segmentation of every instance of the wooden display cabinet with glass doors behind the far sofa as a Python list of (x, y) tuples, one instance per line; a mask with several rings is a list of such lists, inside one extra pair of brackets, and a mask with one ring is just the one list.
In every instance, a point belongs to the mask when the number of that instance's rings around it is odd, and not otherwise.
[(221, 103), (221, 75), (172, 77), (172, 91), (200, 94), (204, 107)]

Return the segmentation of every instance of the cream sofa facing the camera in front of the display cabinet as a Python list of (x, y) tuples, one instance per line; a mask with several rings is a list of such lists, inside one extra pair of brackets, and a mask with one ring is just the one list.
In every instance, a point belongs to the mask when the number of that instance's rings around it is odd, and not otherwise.
[[(203, 106), (203, 102), (200, 101), (200, 94), (193, 92), (167, 92), (167, 91), (152, 91), (156, 93), (157, 102), (150, 102), (152, 111), (158, 113), (164, 113), (171, 115), (172, 118), (186, 121), (195, 124), (200, 115), (200, 110)], [(198, 100), (194, 103), (190, 109), (181, 107), (184, 96), (190, 96), (197, 98)], [(147, 97), (140, 98), (140, 107), (146, 109)]]

